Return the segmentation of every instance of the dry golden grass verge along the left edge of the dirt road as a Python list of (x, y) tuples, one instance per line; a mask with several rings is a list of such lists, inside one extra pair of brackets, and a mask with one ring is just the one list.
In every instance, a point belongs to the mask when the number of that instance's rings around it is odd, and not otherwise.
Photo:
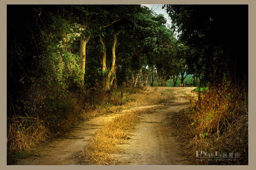
[[(52, 114), (54, 110), (51, 109), (51, 100), (48, 99), (51, 93), (44, 91), (37, 93), (37, 96), (30, 96), (32, 98), (29, 100), (33, 102), (28, 102), (29, 109), (22, 111), (17, 107), (16, 111), (26, 114), (15, 115), (8, 119), (7, 164), (13, 164), (17, 159), (29, 155), (36, 145), (61, 136), (76, 123), (117, 110), (129, 109), (132, 106), (166, 102), (171, 98), (171, 91), (151, 87), (144, 90), (133, 87), (118, 88), (111, 92), (89, 89), (82, 93), (66, 94), (64, 99), (70, 104), (66, 109), (55, 110), (54, 114)], [(38, 120), (35, 116), (37, 114)]]

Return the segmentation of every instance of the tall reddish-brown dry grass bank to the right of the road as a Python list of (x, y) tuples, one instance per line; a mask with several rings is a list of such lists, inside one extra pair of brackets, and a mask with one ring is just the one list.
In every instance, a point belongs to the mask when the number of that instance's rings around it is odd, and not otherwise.
[[(224, 82), (210, 86), (188, 110), (174, 118), (176, 136), (192, 160), (196, 150), (240, 153), (238, 161), (197, 161), (205, 165), (248, 165), (248, 89)], [(205, 156), (205, 155), (201, 155)]]

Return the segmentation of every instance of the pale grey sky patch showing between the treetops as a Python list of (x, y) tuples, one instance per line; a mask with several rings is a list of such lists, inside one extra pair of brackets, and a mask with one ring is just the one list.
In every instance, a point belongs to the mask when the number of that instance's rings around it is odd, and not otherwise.
[[(152, 11), (154, 11), (156, 14), (163, 14), (164, 18), (167, 20), (167, 23), (165, 24), (165, 26), (172, 25), (171, 19), (167, 14), (166, 10), (162, 9), (163, 4), (141, 4), (141, 5), (146, 6), (149, 9), (152, 9)], [(174, 32), (174, 33), (176, 34), (175, 37), (177, 38), (178, 33), (177, 32)]]

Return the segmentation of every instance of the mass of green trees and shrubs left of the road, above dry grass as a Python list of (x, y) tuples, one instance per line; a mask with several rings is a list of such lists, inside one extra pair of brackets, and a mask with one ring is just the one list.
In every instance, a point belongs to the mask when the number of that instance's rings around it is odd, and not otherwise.
[(69, 93), (146, 79), (146, 66), (166, 83), (185, 67), (186, 47), (147, 7), (10, 5), (7, 15), (8, 117), (19, 109), (62, 121)]

